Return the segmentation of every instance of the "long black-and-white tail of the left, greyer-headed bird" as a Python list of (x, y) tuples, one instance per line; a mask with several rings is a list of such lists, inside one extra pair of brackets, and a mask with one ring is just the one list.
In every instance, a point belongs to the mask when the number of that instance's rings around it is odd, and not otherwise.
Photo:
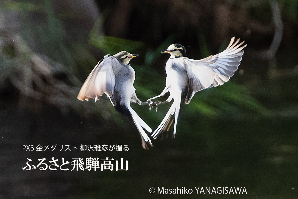
[(143, 148), (148, 149), (147, 144), (149, 144), (150, 146), (153, 146), (153, 145), (151, 143), (150, 138), (145, 133), (144, 129), (146, 129), (150, 133), (152, 132), (152, 129), (142, 120), (142, 118), (140, 118), (140, 116), (138, 114), (136, 114), (136, 112), (134, 111), (134, 109), (131, 108), (130, 105), (128, 105), (127, 108), (128, 108), (128, 111), (131, 114), (131, 117), (132, 117), (132, 120), (134, 121), (134, 124), (136, 125), (136, 128), (139, 130), (139, 133), (140, 133), (141, 138), (142, 138)]

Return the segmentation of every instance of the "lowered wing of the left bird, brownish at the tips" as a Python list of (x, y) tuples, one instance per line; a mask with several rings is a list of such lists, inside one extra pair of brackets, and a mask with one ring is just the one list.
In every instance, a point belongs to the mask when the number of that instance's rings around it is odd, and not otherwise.
[(105, 55), (91, 71), (84, 82), (77, 98), (81, 101), (90, 98), (97, 99), (104, 93), (111, 99), (114, 98), (115, 75), (112, 66), (119, 64), (117, 58)]

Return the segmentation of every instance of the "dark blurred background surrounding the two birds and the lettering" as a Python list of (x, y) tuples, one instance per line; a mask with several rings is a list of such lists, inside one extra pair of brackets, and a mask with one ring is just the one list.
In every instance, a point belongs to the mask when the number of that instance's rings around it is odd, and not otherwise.
[[(0, 198), (297, 198), (297, 1), (0, 1)], [(126, 50), (142, 101), (165, 86), (170, 44), (189, 58), (221, 52), (235, 36), (247, 47), (221, 87), (183, 105), (176, 138), (144, 150), (134, 124), (110, 101), (78, 101), (93, 67)], [(166, 99), (166, 98), (164, 98)], [(157, 112), (132, 104), (154, 130)], [(149, 135), (149, 133), (148, 133)], [(23, 145), (75, 151), (22, 151)], [(81, 152), (82, 144), (128, 152)], [(23, 170), (27, 158), (114, 158), (128, 171)], [(72, 166), (68, 166), (71, 170)], [(193, 189), (150, 194), (150, 187)], [(246, 187), (247, 194), (195, 194), (195, 187)]]

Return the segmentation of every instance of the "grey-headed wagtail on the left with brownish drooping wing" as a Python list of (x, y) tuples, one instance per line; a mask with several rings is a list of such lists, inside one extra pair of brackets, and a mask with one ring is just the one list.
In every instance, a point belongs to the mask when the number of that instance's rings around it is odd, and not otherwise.
[(90, 98), (97, 101), (99, 96), (106, 94), (118, 112), (134, 121), (142, 138), (142, 146), (148, 149), (147, 144), (152, 146), (152, 143), (144, 129), (148, 132), (152, 130), (130, 106), (131, 102), (148, 105), (148, 102), (142, 102), (136, 97), (133, 85), (136, 74), (129, 61), (136, 56), (138, 55), (126, 51), (105, 55), (84, 82), (77, 98), (82, 101)]

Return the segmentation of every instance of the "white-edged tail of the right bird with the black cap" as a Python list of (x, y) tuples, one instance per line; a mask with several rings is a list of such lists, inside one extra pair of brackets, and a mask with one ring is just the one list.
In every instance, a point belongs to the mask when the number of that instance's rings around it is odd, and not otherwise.
[[(153, 139), (156, 139), (157, 136), (162, 132), (169, 132), (169, 129), (173, 124), (174, 117), (175, 117), (175, 122), (174, 122), (173, 137), (175, 138), (180, 106), (181, 106), (181, 100), (175, 100), (173, 102), (167, 114), (164, 116), (164, 119), (162, 120), (162, 122), (159, 124), (156, 130), (151, 134), (151, 137), (153, 137)], [(175, 116), (174, 116), (174, 113), (175, 113)]]

